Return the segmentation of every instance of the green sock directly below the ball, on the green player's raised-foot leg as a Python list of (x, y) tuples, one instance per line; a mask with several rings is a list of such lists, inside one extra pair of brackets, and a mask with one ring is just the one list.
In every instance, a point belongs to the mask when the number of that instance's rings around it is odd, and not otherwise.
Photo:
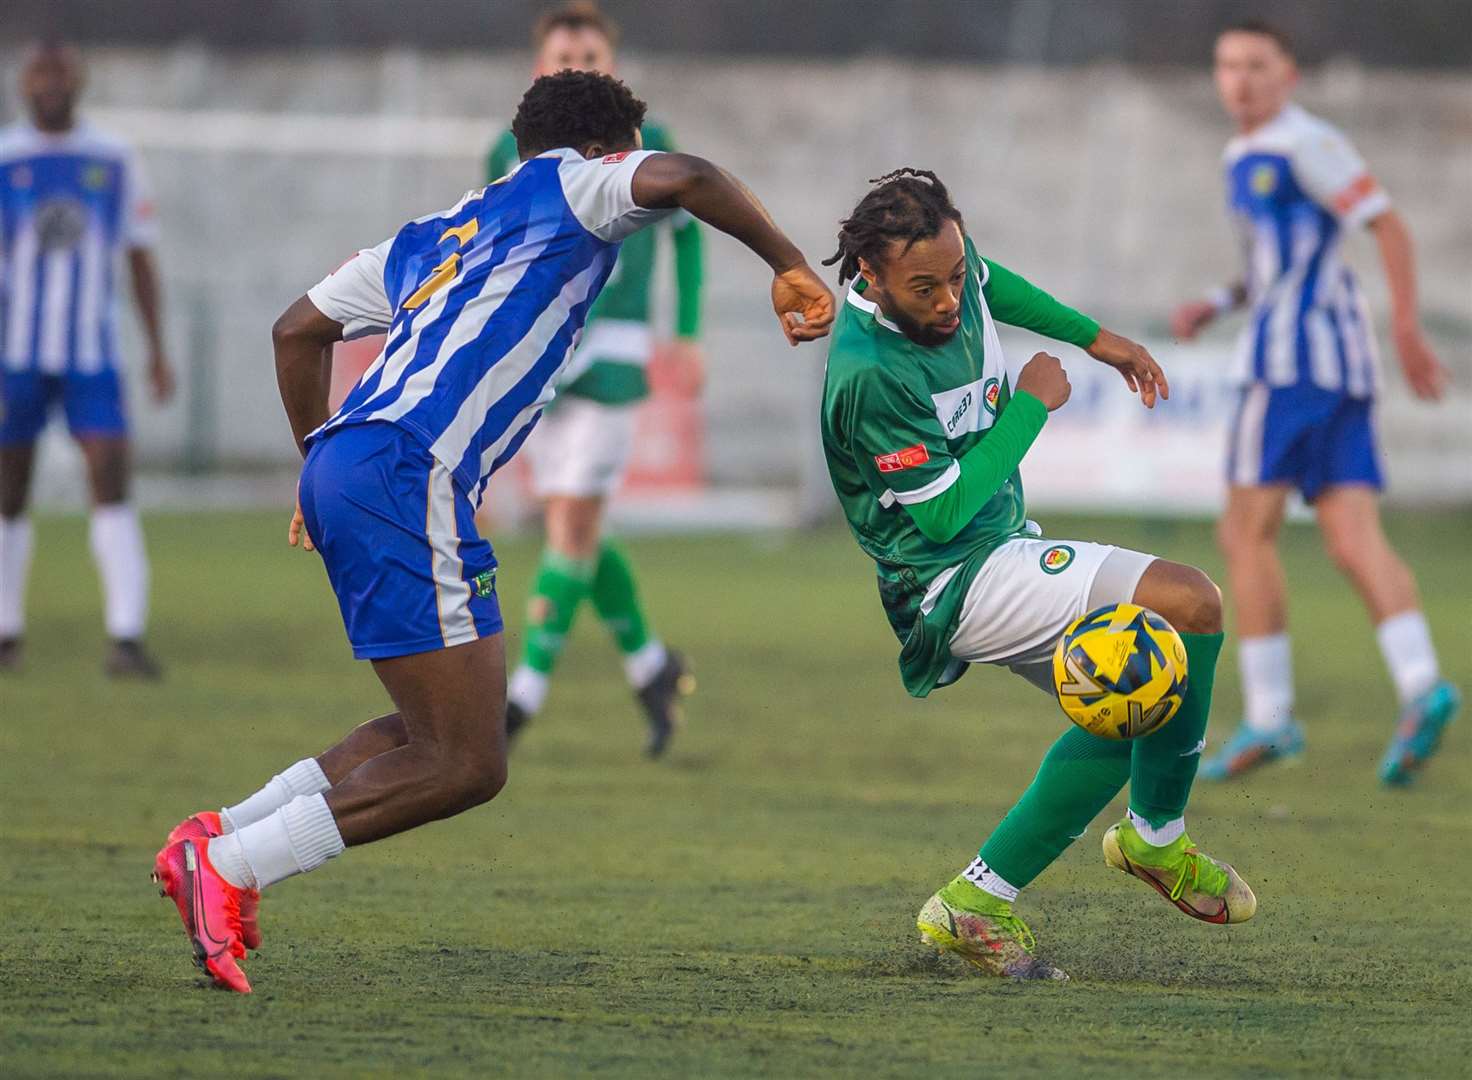
[(1129, 764), (1129, 809), (1160, 828), (1186, 812), (1191, 783), (1206, 747), (1216, 661), (1225, 634), (1182, 634), (1186, 646), (1186, 696), (1170, 722), (1136, 739)]

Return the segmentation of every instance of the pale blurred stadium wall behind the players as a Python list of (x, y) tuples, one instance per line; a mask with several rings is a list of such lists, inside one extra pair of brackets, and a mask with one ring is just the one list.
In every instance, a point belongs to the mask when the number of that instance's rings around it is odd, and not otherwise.
[[(15, 59), (0, 53), (9, 71)], [(140, 455), (153, 468), (290, 466), (274, 316), (358, 247), (480, 181), (526, 57), (194, 46), (94, 50), (90, 63), (88, 112), (138, 144), (158, 190), (169, 340), (185, 368), (168, 411), (153, 412), (134, 386)], [(748, 180), (814, 260), (867, 177), (936, 169), (983, 250), (1139, 335), (1183, 391), (1158, 416), (1136, 416), (1066, 352), (1078, 391), (1044, 440), (1054, 449), (1029, 472), (1030, 491), (1214, 505), (1231, 400), (1219, 372), (1234, 328), (1191, 349), (1164, 333), (1175, 302), (1236, 269), (1219, 178), (1229, 131), (1204, 69), (631, 56), (624, 77), (682, 147)], [(1472, 500), (1472, 75), (1328, 65), (1309, 74), (1301, 100), (1353, 134), (1407, 215), (1426, 322), (1454, 369), (1453, 400), (1437, 409), (1388, 378), (1381, 422), (1395, 493)], [(712, 483), (818, 499), (821, 353), (782, 344), (755, 260), (724, 238), (708, 253)], [(1351, 259), (1384, 327), (1367, 238), (1353, 241)], [(1011, 347), (1041, 346), (1025, 338)], [(1075, 458), (1098, 438), (1116, 447), (1107, 483)]]

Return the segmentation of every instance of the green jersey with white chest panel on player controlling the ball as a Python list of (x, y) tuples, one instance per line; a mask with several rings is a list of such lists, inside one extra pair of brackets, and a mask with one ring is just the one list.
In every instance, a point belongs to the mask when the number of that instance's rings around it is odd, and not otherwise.
[(946, 491), (960, 458), (986, 438), (1013, 399), (992, 310), (1004, 321), (1089, 344), (1098, 324), (1064, 308), (966, 238), (961, 327), (946, 343), (907, 338), (851, 288), (833, 325), (823, 386), (823, 450), (843, 516), (874, 561), (879, 596), (901, 640), (905, 689), (924, 696), (955, 681), (955, 634), (966, 590), (986, 558), (1029, 531), (1022, 475), (1013, 472), (946, 543), (927, 539), (905, 511)]

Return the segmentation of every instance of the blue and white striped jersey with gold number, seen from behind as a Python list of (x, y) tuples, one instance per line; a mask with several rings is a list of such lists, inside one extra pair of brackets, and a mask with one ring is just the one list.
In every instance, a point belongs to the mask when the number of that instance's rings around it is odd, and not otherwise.
[(551, 150), (312, 287), (308, 299), (344, 337), (389, 335), (312, 438), (397, 424), (478, 503), (552, 400), (618, 243), (670, 213), (633, 200), (651, 153)]

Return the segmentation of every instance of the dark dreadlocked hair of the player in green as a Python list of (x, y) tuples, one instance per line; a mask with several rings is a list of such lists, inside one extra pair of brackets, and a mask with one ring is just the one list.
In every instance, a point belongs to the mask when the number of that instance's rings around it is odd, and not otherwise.
[(860, 259), (877, 266), (896, 240), (904, 244), (904, 253), (916, 241), (936, 235), (948, 221), (964, 228), (961, 212), (951, 205), (951, 193), (929, 169), (907, 165), (868, 182), (874, 187), (839, 222), (838, 250), (823, 260), (824, 266), (838, 263), (841, 285), (858, 275)]

